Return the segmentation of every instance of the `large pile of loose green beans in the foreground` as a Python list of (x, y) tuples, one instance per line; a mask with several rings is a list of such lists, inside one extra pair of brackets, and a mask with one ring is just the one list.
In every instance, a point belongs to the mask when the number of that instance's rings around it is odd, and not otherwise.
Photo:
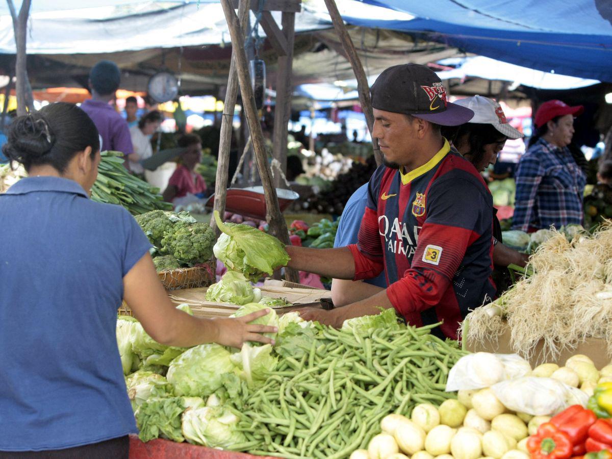
[(286, 458), (348, 457), (392, 412), (439, 405), (449, 368), (465, 353), (431, 335), (433, 326), (376, 329), (367, 337), (332, 328), (300, 360), (277, 371), (236, 406), (248, 442), (236, 450)]

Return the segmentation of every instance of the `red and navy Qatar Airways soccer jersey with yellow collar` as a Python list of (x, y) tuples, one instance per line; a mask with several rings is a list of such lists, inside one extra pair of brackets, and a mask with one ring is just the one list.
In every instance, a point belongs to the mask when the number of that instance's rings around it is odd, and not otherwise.
[(384, 269), (387, 296), (409, 324), (443, 321), (436, 333), (457, 339), (468, 310), (494, 297), (492, 215), (487, 185), (447, 141), (408, 174), (380, 166), (349, 246), (355, 280)]

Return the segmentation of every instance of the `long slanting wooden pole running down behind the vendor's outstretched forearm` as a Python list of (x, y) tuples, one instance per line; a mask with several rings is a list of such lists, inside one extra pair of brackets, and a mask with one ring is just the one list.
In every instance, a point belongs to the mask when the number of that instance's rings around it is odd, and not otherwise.
[[(270, 225), (272, 234), (280, 239), (280, 241), (289, 245), (291, 244), (291, 242), (289, 242), (289, 231), (287, 230), (285, 218), (278, 207), (278, 196), (276, 195), (276, 188), (272, 183), (272, 174), (267, 163), (266, 144), (264, 143), (264, 136), (261, 132), (261, 125), (259, 124), (257, 108), (255, 106), (255, 95), (253, 95), (251, 79), (248, 74), (247, 54), (242, 45), (240, 24), (238, 23), (238, 18), (232, 7), (231, 0), (221, 0), (221, 4), (223, 6), (223, 13), (225, 13), (225, 20), (230, 29), (232, 52), (236, 57), (236, 71), (238, 74), (240, 92), (242, 94), (242, 105), (244, 106), (247, 116), (253, 149), (255, 151), (255, 159), (264, 188), (266, 220)], [(299, 274), (295, 269), (286, 268), (285, 273), (289, 282), (299, 282)]]

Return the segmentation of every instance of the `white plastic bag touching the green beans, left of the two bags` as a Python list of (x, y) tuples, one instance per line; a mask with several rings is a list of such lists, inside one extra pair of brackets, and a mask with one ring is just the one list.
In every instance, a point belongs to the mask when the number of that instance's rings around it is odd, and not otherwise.
[(450, 369), (446, 391), (484, 389), (506, 379), (521, 378), (530, 371), (529, 362), (517, 354), (469, 354)]

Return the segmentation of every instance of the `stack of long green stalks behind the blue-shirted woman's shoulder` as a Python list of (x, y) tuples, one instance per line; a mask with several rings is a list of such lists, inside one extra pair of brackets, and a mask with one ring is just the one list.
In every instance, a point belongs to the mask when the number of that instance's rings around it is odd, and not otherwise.
[(156, 209), (172, 210), (172, 204), (162, 201), (159, 189), (131, 175), (124, 167), (123, 154), (103, 151), (98, 166), (98, 178), (91, 188), (91, 199), (99, 203), (119, 204), (132, 215)]

